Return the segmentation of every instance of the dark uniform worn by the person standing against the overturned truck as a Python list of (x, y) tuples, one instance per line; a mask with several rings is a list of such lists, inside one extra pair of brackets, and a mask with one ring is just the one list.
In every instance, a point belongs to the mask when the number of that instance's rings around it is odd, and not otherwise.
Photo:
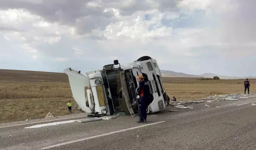
[(147, 107), (148, 107), (148, 101), (150, 100), (150, 88), (148, 86), (148, 82), (142, 80), (139, 84), (138, 88), (138, 95), (140, 96), (140, 102), (139, 104), (139, 116), (140, 121), (139, 123), (144, 123), (147, 120)]

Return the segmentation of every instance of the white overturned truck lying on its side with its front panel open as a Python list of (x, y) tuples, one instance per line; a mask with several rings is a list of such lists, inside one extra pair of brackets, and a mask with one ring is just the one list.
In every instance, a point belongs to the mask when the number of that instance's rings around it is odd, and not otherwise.
[(77, 108), (95, 116), (113, 115), (117, 112), (135, 116), (138, 104), (132, 103), (136, 101), (138, 94), (138, 75), (143, 75), (150, 85), (153, 100), (147, 108), (148, 114), (163, 110), (170, 101), (164, 90), (158, 64), (149, 56), (123, 65), (114, 60), (114, 64), (105, 65), (102, 70), (85, 74), (72, 68), (64, 69), (64, 73), (68, 75)]

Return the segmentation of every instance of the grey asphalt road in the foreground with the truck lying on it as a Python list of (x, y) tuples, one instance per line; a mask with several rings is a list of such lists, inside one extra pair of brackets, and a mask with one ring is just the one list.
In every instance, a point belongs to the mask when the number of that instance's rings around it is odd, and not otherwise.
[[(0, 124), (0, 148), (256, 150), (256, 106), (252, 104), (256, 104), (256, 97), (239, 101), (193, 104), (194, 109), (168, 106), (163, 112), (148, 115), (147, 124), (136, 123), (138, 116), (119, 116), (112, 120), (72, 122), (30, 129), (25, 127), (48, 122), (8, 127)], [(168, 109), (179, 111), (168, 112)], [(74, 119), (77, 118), (66, 120)]]

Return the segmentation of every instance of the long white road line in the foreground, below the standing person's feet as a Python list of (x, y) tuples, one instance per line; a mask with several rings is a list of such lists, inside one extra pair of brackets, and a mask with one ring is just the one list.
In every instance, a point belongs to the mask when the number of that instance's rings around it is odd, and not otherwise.
[(108, 133), (105, 133), (105, 134), (91, 136), (91, 137), (88, 137), (88, 138), (81, 138), (81, 139), (78, 139), (78, 140), (73, 140), (73, 141), (64, 142), (64, 143), (60, 143), (60, 144), (56, 144), (56, 145), (52, 145), (52, 146), (43, 147), (43, 148), (41, 148), (41, 150), (55, 148), (55, 147), (59, 147), (59, 146), (67, 145), (67, 144), (72, 144), (72, 143), (75, 143), (75, 142), (81, 142), (81, 141), (84, 141), (84, 140), (89, 140), (89, 139), (98, 138), (98, 137), (102, 137), (102, 136), (108, 136), (110, 134), (115, 134), (115, 133), (124, 132), (124, 131), (128, 131), (128, 130), (142, 128), (142, 127), (145, 127), (145, 126), (151, 126), (151, 125), (154, 125), (154, 124), (160, 124), (160, 123), (163, 123), (163, 122), (165, 122), (165, 121), (155, 122), (155, 123), (151, 123), (151, 124), (144, 124), (142, 126), (136, 126), (136, 127), (133, 127), (133, 128), (127, 128), (127, 129), (118, 130), (118, 131), (114, 131), (114, 132), (108, 132)]

